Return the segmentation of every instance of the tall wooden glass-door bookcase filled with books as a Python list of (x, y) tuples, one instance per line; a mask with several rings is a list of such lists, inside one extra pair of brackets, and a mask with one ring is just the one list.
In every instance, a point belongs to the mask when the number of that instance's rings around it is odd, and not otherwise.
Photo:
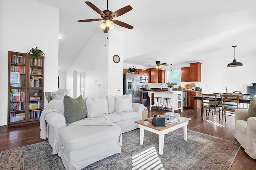
[(38, 122), (43, 99), (44, 56), (8, 51), (8, 127)]

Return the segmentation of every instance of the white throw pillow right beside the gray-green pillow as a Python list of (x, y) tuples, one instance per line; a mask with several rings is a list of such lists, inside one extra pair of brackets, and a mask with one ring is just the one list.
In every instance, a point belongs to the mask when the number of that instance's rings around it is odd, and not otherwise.
[(97, 97), (94, 97), (93, 100), (90, 99), (90, 97), (87, 97), (86, 108), (87, 108), (87, 117), (96, 117), (102, 114), (100, 101)]

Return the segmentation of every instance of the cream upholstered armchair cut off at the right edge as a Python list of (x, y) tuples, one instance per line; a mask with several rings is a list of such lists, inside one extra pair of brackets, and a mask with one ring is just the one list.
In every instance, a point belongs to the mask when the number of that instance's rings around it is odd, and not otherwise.
[(244, 151), (256, 159), (256, 117), (248, 118), (247, 109), (236, 109), (235, 138)]

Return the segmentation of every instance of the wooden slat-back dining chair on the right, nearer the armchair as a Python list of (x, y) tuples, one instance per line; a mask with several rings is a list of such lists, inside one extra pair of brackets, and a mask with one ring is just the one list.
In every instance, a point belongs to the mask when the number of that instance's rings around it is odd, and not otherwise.
[(222, 108), (222, 117), (221, 124), (223, 123), (223, 115), (226, 121), (226, 115), (235, 116), (234, 112), (238, 109), (239, 106), (239, 95), (226, 95), (220, 94), (221, 98), (221, 108)]

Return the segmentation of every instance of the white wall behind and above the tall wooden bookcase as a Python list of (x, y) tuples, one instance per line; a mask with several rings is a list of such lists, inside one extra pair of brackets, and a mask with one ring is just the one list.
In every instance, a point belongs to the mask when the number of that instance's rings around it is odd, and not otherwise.
[(45, 53), (44, 91), (58, 90), (59, 10), (36, 0), (0, 0), (0, 126), (7, 125), (8, 51)]

